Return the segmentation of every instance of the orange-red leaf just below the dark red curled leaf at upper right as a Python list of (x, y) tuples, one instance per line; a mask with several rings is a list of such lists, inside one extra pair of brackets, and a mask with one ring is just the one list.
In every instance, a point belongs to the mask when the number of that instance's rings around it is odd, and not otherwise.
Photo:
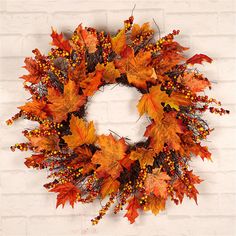
[(205, 88), (211, 87), (211, 83), (207, 78), (194, 72), (185, 72), (178, 80), (194, 93), (202, 92)]

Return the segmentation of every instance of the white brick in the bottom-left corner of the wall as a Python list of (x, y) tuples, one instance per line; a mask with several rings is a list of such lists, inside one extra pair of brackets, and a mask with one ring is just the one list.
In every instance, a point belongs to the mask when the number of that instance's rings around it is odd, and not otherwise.
[(2, 219), (3, 236), (25, 236), (27, 235), (26, 217), (3, 217)]

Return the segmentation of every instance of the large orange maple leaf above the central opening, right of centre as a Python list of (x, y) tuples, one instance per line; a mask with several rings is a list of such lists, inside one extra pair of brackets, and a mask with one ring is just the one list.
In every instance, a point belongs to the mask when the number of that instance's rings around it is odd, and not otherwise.
[(134, 55), (134, 50), (127, 47), (122, 58), (116, 60), (116, 66), (121, 73), (126, 73), (128, 82), (138, 88), (147, 88), (147, 82), (155, 83), (155, 71), (149, 65), (151, 52), (140, 50)]

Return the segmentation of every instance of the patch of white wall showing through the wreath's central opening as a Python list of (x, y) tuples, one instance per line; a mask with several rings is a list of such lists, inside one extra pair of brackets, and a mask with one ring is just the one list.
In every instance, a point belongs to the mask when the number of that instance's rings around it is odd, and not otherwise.
[(135, 88), (106, 85), (90, 98), (86, 118), (94, 121), (97, 134), (113, 133), (131, 143), (143, 141), (150, 122), (138, 113), (136, 105), (141, 95)]

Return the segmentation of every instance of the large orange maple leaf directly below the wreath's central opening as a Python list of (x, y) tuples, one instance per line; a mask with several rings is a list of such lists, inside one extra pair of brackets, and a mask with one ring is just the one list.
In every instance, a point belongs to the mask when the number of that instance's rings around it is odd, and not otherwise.
[(99, 177), (110, 175), (116, 179), (123, 169), (119, 161), (125, 157), (127, 149), (124, 138), (116, 140), (111, 134), (100, 135), (97, 143), (101, 150), (96, 151), (92, 157), (94, 164), (100, 164), (96, 170), (97, 175)]

